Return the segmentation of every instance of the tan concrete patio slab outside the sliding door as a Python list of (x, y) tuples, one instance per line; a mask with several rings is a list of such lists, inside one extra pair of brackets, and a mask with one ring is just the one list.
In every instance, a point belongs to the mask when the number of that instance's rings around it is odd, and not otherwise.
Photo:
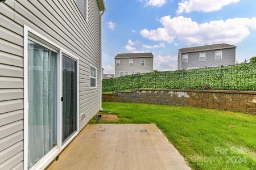
[(87, 125), (48, 169), (190, 169), (155, 124)]

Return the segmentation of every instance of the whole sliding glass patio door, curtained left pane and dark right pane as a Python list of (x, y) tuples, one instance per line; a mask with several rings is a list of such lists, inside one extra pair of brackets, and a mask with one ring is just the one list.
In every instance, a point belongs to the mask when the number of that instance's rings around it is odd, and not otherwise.
[(24, 169), (41, 169), (68, 145), (78, 127), (79, 60), (38, 39), (27, 39), (24, 62)]

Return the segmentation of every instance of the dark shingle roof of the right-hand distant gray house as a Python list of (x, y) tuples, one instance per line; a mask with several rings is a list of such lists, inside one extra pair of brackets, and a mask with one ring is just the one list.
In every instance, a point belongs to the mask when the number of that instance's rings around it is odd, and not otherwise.
[(200, 51), (207, 51), (207, 50), (214, 50), (214, 49), (226, 49), (226, 48), (236, 48), (235, 45), (230, 44), (212, 44), (212, 45), (203, 45), (203, 46), (194, 46), (189, 48), (181, 48), (179, 49), (180, 53), (190, 53), (190, 52), (200, 52)]

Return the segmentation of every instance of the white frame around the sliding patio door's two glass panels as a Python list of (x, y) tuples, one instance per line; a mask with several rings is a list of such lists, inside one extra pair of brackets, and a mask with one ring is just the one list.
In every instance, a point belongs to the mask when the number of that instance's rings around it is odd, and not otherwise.
[[(23, 168), (28, 169), (28, 39), (39, 42), (40, 45), (45, 46), (48, 49), (57, 51), (57, 146), (52, 148), (46, 155), (43, 156), (36, 164), (30, 169), (44, 169), (46, 168), (57, 155), (76, 137), (79, 133), (79, 58), (73, 56), (67, 50), (61, 46), (55, 44), (55, 42), (47, 39), (40, 33), (34, 31), (27, 25), (24, 25), (23, 32), (23, 81), (24, 81), (24, 119), (23, 119)], [(76, 132), (67, 141), (62, 141), (62, 56), (63, 54), (76, 60), (77, 63), (77, 127)], [(64, 142), (64, 143), (63, 143)]]

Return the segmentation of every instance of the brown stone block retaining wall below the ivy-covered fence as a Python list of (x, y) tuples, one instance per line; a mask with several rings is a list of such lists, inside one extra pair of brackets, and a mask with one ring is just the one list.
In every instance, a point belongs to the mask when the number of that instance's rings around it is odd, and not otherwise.
[(256, 91), (139, 89), (102, 94), (102, 101), (185, 105), (256, 115)]

